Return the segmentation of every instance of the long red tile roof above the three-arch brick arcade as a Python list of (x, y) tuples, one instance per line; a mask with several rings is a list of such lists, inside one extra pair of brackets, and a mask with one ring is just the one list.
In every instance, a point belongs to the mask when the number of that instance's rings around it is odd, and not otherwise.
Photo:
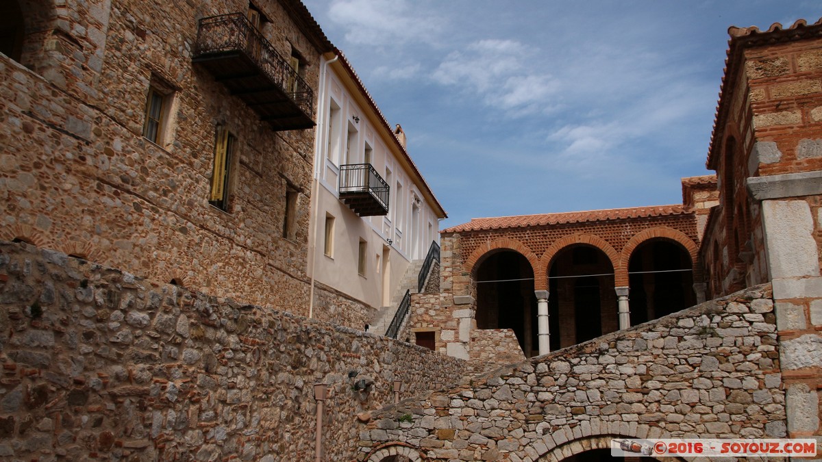
[(473, 218), (466, 224), (458, 224), (442, 233), (463, 233), (466, 231), (483, 231), (489, 229), (525, 228), (529, 226), (547, 226), (552, 224), (584, 223), (605, 221), (609, 219), (631, 219), (651, 216), (680, 215), (691, 213), (685, 206), (631, 207), (628, 209), (587, 210), (580, 212), (562, 212), (541, 215), (515, 215), (495, 218)]

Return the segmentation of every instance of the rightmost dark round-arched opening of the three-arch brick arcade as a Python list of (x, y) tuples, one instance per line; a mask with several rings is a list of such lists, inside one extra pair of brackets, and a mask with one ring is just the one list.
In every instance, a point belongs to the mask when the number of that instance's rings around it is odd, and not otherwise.
[(693, 262), (680, 243), (665, 238), (637, 246), (628, 262), (630, 325), (696, 304)]

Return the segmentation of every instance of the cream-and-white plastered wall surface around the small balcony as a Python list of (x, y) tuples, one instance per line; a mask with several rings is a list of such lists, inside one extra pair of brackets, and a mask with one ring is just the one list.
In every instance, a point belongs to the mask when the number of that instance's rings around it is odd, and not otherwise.
[[(312, 200), (316, 210), (312, 210), (310, 237), (315, 250), (309, 274), (322, 284), (380, 307), (384, 290), (388, 291), (388, 299), (397, 292), (409, 262), (425, 258), (432, 240), (439, 241), (439, 222), (434, 206), (423, 195), (422, 183), (405, 164), (394, 134), (382, 125), (379, 114), (367, 105), (364, 106), (367, 109), (363, 109), (363, 104), (358, 104), (363, 99), (349, 92), (349, 88), (355, 87), (345, 85), (348, 75), (339, 62), (330, 65), (323, 62), (321, 69), (326, 72), (324, 81), (321, 72), (316, 116), (316, 197)], [(366, 146), (371, 149), (372, 166), (390, 182), (386, 216), (361, 218), (339, 201), (339, 165), (346, 157), (348, 164), (363, 164)], [(418, 209), (416, 220), (414, 207)], [(333, 256), (324, 254), (326, 215), (335, 218)], [(416, 229), (414, 223), (417, 223)], [(364, 275), (358, 274), (360, 239), (367, 242)], [(392, 244), (388, 243), (389, 239)], [(390, 249), (387, 288), (383, 284), (384, 248)]]

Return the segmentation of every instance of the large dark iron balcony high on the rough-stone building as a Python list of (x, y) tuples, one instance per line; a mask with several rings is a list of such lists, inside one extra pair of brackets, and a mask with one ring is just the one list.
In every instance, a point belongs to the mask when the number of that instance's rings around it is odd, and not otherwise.
[(314, 91), (246, 15), (201, 19), (192, 62), (275, 130), (314, 127)]

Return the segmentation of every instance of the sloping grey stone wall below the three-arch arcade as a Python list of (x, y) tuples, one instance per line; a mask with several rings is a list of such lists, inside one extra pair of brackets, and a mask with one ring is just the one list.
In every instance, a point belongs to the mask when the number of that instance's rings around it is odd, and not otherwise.
[(401, 401), (361, 426), (358, 460), (396, 445), (537, 460), (596, 436), (785, 437), (773, 308), (758, 286)]

